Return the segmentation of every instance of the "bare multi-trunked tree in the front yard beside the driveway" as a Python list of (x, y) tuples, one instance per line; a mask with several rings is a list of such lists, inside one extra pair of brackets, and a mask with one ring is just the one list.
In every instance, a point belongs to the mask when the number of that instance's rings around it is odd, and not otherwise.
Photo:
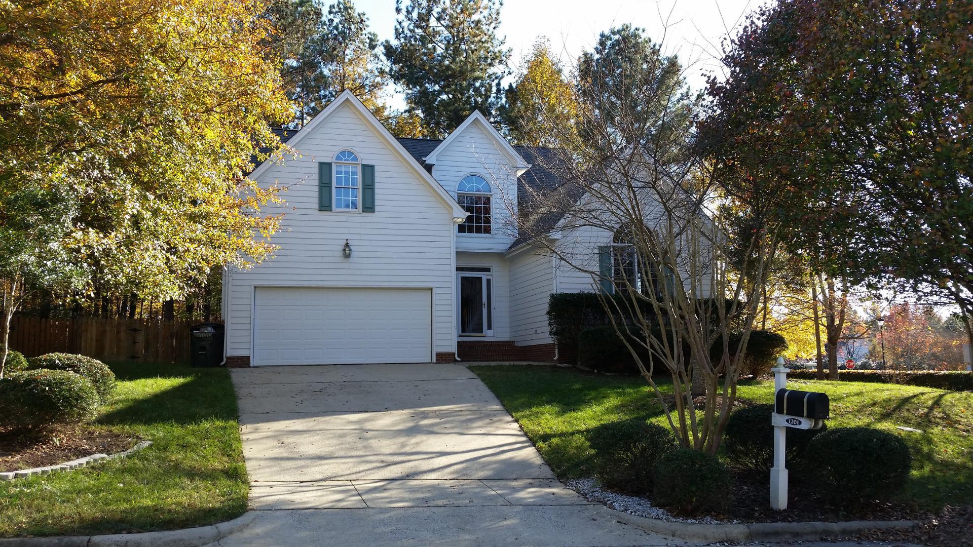
[[(723, 213), (707, 211), (719, 188), (694, 146), (695, 103), (677, 59), (641, 29), (603, 33), (575, 76), (579, 130), (544, 127), (544, 141), (559, 146), (538, 159), (563, 184), (528, 190), (518, 229), (541, 252), (592, 275), (679, 442), (713, 454), (736, 398), (775, 235), (752, 204), (730, 209), (755, 226), (739, 233), (727, 230)], [(657, 385), (660, 372), (671, 378), (674, 398)], [(702, 384), (696, 394), (694, 381)]]

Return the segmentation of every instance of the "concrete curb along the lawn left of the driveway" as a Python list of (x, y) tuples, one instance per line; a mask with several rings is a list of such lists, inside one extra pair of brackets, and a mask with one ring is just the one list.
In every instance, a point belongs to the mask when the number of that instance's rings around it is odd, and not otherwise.
[(250, 526), (257, 518), (252, 511), (232, 521), (190, 529), (113, 533), (110, 535), (69, 535), (52, 537), (12, 537), (0, 539), (6, 547), (198, 547), (219, 541)]

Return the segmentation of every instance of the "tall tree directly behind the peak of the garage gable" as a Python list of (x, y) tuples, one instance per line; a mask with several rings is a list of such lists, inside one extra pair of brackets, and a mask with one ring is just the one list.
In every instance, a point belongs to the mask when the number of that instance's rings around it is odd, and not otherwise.
[(368, 17), (350, 0), (338, 0), (324, 15), (313, 0), (275, 0), (270, 7), (277, 26), (276, 50), (281, 74), (303, 127), (342, 91), (351, 91), (379, 119), (385, 117), (378, 35)]

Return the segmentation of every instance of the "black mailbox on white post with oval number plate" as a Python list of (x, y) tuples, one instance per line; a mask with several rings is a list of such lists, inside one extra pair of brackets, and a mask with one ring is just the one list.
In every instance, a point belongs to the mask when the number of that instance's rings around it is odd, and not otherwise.
[(784, 358), (777, 357), (774, 371), (774, 467), (771, 468), (771, 507), (787, 508), (787, 467), (784, 453), (787, 450), (787, 428), (819, 429), (828, 418), (828, 396), (814, 391), (787, 389), (787, 373)]

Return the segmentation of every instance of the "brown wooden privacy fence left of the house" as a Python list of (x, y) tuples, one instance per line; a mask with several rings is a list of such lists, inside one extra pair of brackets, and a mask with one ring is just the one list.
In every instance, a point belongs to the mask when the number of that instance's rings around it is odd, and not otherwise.
[(190, 321), (15, 316), (10, 346), (27, 357), (53, 351), (101, 360), (188, 362)]

